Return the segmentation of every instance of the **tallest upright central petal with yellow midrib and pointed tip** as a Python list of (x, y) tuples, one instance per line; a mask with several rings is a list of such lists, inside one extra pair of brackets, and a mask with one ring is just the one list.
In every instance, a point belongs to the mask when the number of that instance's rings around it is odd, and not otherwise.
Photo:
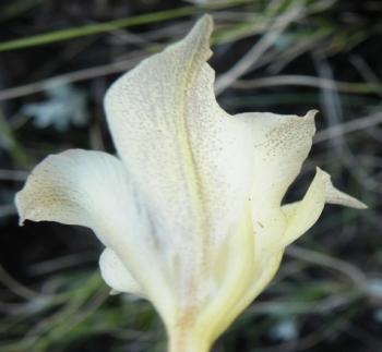
[[(206, 63), (211, 31), (204, 16), (183, 40), (119, 78), (105, 98), (119, 155), (158, 236), (183, 257), (180, 266), (207, 263), (206, 252), (230, 231), (250, 184), (250, 131), (215, 100)], [(190, 267), (182, 270), (193, 276)]]

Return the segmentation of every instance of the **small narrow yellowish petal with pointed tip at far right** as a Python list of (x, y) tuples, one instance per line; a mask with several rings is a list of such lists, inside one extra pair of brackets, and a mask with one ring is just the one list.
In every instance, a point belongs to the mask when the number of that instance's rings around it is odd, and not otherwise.
[(302, 201), (283, 206), (283, 213), (287, 218), (287, 230), (283, 238), (284, 245), (294, 242), (315, 223), (325, 203), (357, 209), (367, 207), (358, 199), (335, 189), (331, 182), (330, 174), (318, 168), (315, 177)]

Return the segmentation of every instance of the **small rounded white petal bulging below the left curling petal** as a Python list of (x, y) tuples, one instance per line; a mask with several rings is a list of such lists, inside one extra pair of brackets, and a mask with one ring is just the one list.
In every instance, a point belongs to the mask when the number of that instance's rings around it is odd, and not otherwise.
[(100, 255), (99, 269), (105, 282), (114, 291), (144, 295), (141, 284), (110, 248), (105, 248)]

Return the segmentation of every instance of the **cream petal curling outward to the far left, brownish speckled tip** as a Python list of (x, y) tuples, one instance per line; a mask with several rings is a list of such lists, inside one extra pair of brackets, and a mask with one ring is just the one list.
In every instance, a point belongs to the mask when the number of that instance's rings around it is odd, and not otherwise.
[(21, 222), (48, 220), (92, 228), (164, 316), (171, 299), (162, 254), (119, 159), (81, 149), (49, 156), (16, 194), (16, 207)]

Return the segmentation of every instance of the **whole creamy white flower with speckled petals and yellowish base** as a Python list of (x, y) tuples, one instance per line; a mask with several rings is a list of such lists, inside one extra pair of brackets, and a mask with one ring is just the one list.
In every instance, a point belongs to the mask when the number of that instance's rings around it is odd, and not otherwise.
[(21, 222), (93, 229), (106, 247), (105, 281), (154, 304), (171, 352), (208, 351), (325, 203), (365, 208), (320, 169), (300, 202), (280, 205), (311, 148), (315, 112), (225, 112), (206, 63), (212, 28), (204, 16), (109, 88), (119, 158), (49, 156), (16, 195)]

